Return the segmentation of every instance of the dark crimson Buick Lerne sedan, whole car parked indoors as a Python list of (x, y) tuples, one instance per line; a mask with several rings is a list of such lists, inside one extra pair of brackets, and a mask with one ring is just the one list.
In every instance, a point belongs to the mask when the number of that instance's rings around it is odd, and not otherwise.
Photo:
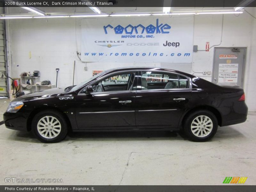
[(219, 126), (242, 123), (244, 91), (161, 68), (116, 68), (65, 89), (20, 96), (4, 113), (7, 128), (58, 142), (72, 131), (184, 131), (211, 139)]

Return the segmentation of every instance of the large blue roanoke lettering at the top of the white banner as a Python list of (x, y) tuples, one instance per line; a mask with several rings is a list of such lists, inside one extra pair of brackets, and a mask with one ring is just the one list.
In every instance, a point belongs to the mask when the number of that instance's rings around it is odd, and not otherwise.
[(123, 27), (121, 25), (117, 25), (116, 27), (113, 27), (112, 25), (108, 24), (107, 26), (103, 26), (104, 32), (105, 34), (108, 34), (107, 28), (113, 29), (115, 31), (115, 34), (129, 34), (132, 35), (134, 32), (135, 34), (139, 34), (139, 30), (140, 29), (140, 34), (143, 34), (145, 31), (147, 34), (169, 34), (170, 33), (170, 29), (171, 26), (168, 25), (167, 23), (163, 24), (159, 24), (159, 20), (156, 19), (156, 25), (148, 25), (148, 26), (143, 26), (142, 24), (133, 26), (131, 24), (127, 25), (126, 27)]

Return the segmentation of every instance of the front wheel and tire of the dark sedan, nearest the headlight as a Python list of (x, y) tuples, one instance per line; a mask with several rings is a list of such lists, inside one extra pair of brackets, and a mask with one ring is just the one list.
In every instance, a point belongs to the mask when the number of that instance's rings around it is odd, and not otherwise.
[[(38, 140), (44, 143), (56, 143), (63, 140), (68, 133), (63, 115), (54, 110), (45, 110), (35, 115), (31, 129)], [(41, 133), (40, 133), (41, 132)]]

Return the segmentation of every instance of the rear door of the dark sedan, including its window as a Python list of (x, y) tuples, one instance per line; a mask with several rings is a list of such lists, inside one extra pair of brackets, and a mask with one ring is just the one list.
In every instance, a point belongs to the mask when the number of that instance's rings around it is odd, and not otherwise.
[(141, 71), (135, 98), (137, 128), (177, 128), (181, 115), (189, 106), (191, 93), (188, 77)]

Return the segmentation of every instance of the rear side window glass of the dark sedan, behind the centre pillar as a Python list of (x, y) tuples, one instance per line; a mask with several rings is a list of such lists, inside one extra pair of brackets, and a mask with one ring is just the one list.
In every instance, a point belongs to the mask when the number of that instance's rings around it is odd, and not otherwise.
[(141, 89), (178, 89), (188, 88), (188, 79), (173, 73), (142, 72)]

